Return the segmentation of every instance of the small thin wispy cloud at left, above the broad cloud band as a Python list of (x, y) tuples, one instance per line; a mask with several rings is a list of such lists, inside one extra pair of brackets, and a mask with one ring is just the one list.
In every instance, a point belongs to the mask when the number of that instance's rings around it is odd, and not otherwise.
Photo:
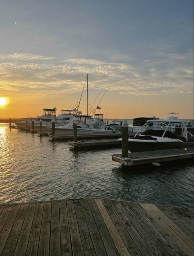
[(55, 59), (54, 57), (45, 57), (40, 54), (31, 54), (31, 53), (14, 53), (14, 54), (7, 54), (7, 55), (0, 55), (1, 60), (48, 60), (48, 59)]

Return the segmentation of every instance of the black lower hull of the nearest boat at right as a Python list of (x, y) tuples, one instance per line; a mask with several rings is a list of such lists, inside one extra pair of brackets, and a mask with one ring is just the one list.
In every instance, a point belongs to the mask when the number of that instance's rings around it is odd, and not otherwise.
[(194, 147), (193, 142), (136, 142), (129, 141), (128, 149), (131, 152), (142, 152), (151, 150), (167, 150), (175, 148)]

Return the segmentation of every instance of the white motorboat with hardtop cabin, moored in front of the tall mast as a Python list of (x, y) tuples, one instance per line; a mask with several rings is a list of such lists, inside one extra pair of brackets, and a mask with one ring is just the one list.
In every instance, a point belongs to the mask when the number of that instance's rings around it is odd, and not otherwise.
[(91, 116), (88, 115), (74, 115), (71, 122), (67, 125), (55, 127), (55, 135), (73, 135), (73, 125), (77, 125), (77, 134), (111, 134), (114, 129), (95, 129), (93, 125), (90, 127)]

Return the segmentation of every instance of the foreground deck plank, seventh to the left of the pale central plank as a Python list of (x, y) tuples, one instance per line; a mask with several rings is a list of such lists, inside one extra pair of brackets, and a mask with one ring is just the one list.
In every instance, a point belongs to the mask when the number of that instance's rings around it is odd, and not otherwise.
[(38, 246), (38, 256), (49, 256), (51, 204), (51, 202), (45, 202), (44, 204), (41, 235)]

